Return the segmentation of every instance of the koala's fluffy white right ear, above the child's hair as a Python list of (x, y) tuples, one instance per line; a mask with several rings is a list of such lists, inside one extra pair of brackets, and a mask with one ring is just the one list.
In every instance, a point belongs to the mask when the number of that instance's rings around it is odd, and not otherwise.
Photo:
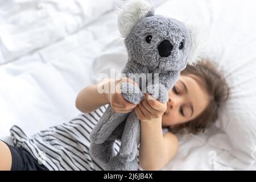
[(190, 39), (191, 39), (191, 52), (188, 56), (188, 64), (196, 65), (197, 61), (201, 61), (200, 57), (205, 50), (205, 44), (203, 42), (204, 32), (199, 27), (187, 24)]

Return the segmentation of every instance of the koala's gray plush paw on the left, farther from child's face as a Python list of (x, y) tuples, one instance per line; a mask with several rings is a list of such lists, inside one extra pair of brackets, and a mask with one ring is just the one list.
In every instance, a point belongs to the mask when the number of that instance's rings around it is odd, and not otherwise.
[(139, 89), (137, 85), (131, 84), (129, 82), (123, 82), (121, 84), (121, 90), (123, 98), (135, 105), (139, 104), (139, 102), (141, 102), (144, 97), (141, 89)]

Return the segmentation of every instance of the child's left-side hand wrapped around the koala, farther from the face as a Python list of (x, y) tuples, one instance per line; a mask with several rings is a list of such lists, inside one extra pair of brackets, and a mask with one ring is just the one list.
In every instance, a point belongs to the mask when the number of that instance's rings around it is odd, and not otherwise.
[[(109, 81), (109, 86), (114, 85), (115, 86), (115, 92), (114, 93), (106, 93), (106, 96), (109, 100), (110, 105), (112, 106), (112, 109), (116, 113), (129, 113), (136, 107), (136, 105), (131, 104), (130, 102), (126, 101), (121, 93), (120, 85), (122, 82), (131, 82), (138, 86), (136, 82), (133, 80), (123, 77), (120, 80), (111, 80)], [(110, 88), (110, 87), (109, 87)]]

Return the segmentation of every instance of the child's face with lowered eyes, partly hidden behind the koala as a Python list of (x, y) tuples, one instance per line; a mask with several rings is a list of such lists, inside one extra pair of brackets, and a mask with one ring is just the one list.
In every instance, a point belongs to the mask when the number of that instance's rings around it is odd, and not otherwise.
[(162, 115), (163, 126), (179, 125), (195, 119), (207, 107), (209, 96), (195, 79), (199, 80), (194, 75), (181, 75), (169, 91), (167, 110)]

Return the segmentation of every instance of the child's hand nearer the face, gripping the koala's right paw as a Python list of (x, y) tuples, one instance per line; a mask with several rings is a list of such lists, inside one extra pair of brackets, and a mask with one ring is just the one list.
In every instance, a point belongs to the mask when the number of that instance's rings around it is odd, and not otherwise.
[(141, 121), (152, 121), (161, 118), (166, 109), (166, 103), (155, 100), (147, 93), (146, 98), (135, 107), (135, 113)]

